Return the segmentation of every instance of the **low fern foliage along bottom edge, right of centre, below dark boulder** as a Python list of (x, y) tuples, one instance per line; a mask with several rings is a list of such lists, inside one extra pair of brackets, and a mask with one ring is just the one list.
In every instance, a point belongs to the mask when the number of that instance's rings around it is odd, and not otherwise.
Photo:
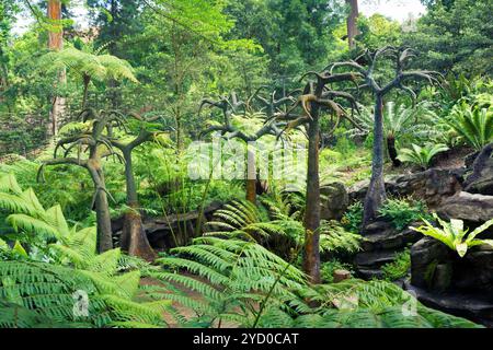
[[(387, 281), (357, 279), (322, 284), (310, 298), (321, 303), (316, 313), (297, 317), (297, 327), (320, 328), (475, 328), (460, 317), (423, 306)], [(331, 307), (328, 307), (331, 306)]]

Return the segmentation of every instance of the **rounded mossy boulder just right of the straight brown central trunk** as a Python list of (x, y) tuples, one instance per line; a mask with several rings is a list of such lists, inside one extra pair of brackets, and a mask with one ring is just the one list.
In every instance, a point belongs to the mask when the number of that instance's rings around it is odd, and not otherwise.
[(342, 183), (331, 183), (320, 188), (323, 220), (341, 220), (349, 205), (349, 196)]

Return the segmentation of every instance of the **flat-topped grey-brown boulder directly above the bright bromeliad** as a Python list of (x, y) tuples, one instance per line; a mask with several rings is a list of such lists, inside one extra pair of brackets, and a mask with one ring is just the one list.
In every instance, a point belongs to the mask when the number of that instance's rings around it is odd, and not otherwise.
[(444, 200), (437, 213), (445, 219), (483, 223), (493, 218), (493, 196), (461, 191)]

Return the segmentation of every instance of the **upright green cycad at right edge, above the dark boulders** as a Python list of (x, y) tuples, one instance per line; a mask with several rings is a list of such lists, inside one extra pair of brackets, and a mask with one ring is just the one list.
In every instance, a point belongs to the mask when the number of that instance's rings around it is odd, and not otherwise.
[(493, 109), (471, 107), (466, 102), (456, 104), (448, 125), (471, 147), (480, 151), (493, 140)]

